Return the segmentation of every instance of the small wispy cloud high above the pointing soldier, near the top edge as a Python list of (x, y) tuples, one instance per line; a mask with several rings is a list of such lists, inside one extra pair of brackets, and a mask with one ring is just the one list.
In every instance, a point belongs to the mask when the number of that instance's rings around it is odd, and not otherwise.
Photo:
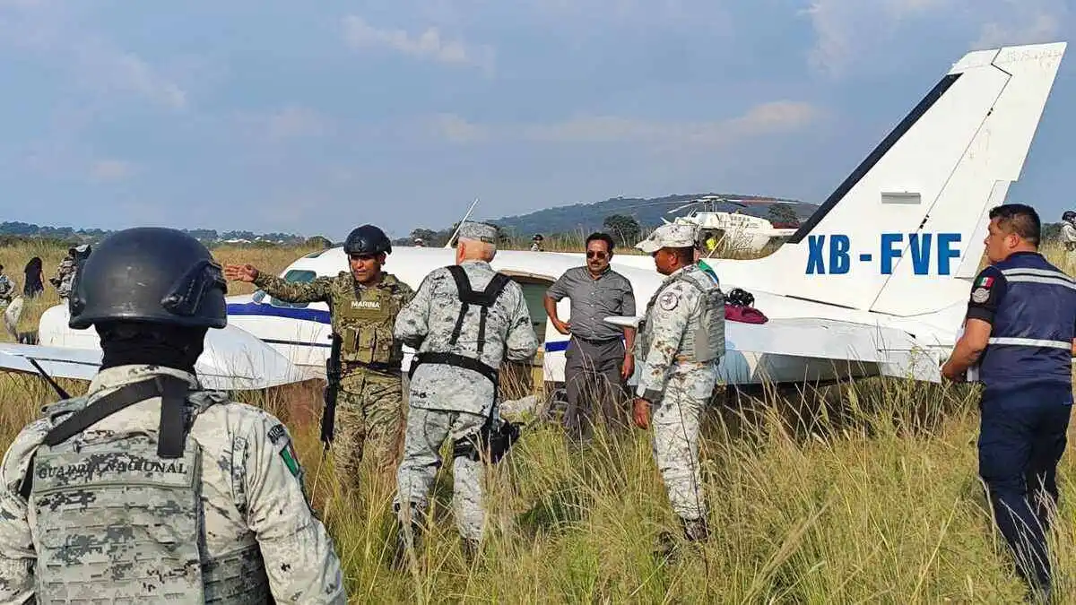
[(468, 45), (461, 40), (449, 40), (437, 27), (428, 27), (419, 34), (402, 29), (381, 29), (357, 15), (343, 18), (344, 41), (352, 48), (390, 48), (420, 59), (450, 65), (473, 65), (486, 72), (493, 70), (493, 48)]

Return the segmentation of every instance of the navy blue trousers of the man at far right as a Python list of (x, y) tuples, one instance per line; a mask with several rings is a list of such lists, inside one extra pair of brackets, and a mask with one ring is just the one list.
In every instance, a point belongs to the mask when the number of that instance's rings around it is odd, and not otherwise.
[(1050, 585), (1046, 532), (1058, 505), (1057, 468), (1065, 450), (1072, 392), (1025, 390), (979, 403), (979, 476), (997, 527), (1027, 582)]

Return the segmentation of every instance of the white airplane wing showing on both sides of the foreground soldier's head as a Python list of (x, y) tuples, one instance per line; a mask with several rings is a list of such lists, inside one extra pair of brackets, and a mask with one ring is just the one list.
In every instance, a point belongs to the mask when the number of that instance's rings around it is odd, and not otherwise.
[[(101, 365), (101, 349), (43, 347), (0, 342), (0, 369), (38, 374), (29, 360), (52, 377), (90, 380)], [(235, 326), (211, 329), (195, 364), (207, 389), (245, 391), (305, 380), (286, 357), (251, 334)]]

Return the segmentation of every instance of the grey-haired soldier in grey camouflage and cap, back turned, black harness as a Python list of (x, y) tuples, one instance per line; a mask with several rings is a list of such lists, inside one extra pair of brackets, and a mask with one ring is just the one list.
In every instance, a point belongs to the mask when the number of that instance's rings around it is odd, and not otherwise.
[(456, 526), (468, 552), (482, 539), (482, 463), (475, 438), (494, 417), (501, 362), (526, 362), (538, 350), (523, 290), (490, 266), (496, 241), (490, 225), (461, 225), (456, 264), (426, 276), (396, 319), (396, 337), (417, 351), (394, 501), (401, 547), (413, 546), (409, 536), (425, 512), (441, 465), (438, 452), (450, 435)]

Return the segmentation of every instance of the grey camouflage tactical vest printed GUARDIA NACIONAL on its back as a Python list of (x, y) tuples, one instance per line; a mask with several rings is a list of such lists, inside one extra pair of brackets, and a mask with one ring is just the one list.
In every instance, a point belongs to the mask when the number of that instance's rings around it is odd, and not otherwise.
[[(38, 603), (271, 602), (253, 534), (227, 555), (202, 560), (201, 448), (186, 432), (213, 402), (188, 397), (186, 388), (182, 380), (155, 377), (91, 406), (76, 398), (47, 410), (54, 420), (74, 413), (45, 435), (22, 490), (37, 520)], [(161, 394), (167, 403), (159, 439), (142, 432), (77, 437)]]

